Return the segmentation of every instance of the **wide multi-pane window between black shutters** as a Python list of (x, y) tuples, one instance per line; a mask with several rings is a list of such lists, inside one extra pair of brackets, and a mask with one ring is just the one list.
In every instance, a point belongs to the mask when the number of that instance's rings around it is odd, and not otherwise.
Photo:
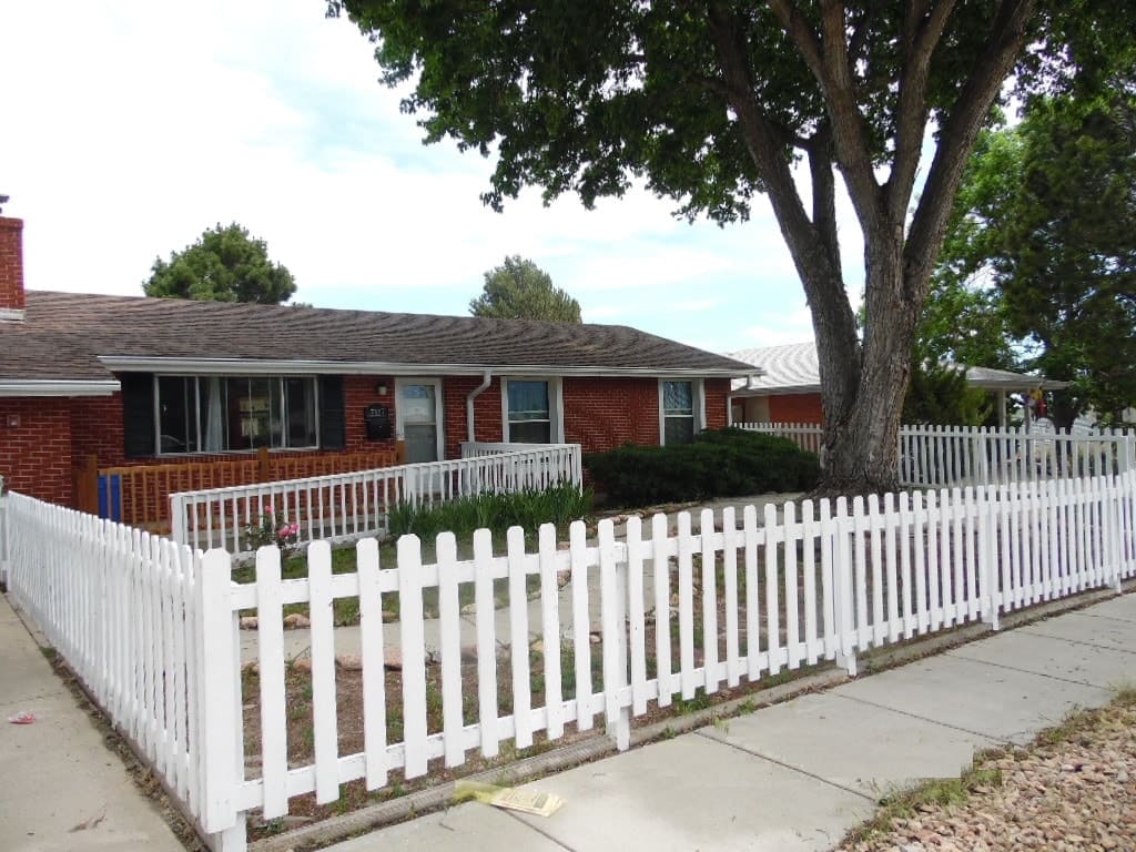
[(158, 452), (315, 448), (310, 376), (158, 376)]

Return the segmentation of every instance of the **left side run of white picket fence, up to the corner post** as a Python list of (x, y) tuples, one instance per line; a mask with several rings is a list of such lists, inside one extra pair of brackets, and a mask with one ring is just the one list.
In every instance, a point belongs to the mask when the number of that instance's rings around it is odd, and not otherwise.
[(18, 493), (0, 503), (12, 602), (175, 800), (200, 813), (216, 788), (203, 727), (216, 652), (202, 630), (201, 551)]

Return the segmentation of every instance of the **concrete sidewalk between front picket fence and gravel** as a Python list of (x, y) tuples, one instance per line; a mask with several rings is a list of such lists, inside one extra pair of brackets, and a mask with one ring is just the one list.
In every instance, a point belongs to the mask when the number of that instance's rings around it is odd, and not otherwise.
[(1134, 684), (1126, 594), (526, 785), (566, 800), (546, 819), (467, 803), (329, 849), (828, 850), (885, 791)]

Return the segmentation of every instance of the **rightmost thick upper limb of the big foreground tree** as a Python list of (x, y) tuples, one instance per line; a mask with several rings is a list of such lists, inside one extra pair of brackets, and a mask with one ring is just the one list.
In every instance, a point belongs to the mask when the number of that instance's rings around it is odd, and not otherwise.
[(1027, 25), (1036, 5), (1036, 0), (1003, 0), (986, 50), (943, 123), (922, 200), (903, 249), (904, 287), (910, 299), (921, 298), (926, 292), (951, 216), (952, 206), (943, 200), (954, 198), (959, 189), (978, 132), (1025, 47)]

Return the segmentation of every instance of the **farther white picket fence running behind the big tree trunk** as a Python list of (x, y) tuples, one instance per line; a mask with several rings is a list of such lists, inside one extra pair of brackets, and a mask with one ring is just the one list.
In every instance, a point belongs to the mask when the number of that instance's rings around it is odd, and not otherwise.
[[(787, 437), (820, 453), (817, 424), (738, 423), (737, 428)], [(901, 426), (900, 483), (905, 487), (999, 485), (1076, 479), (1133, 466), (1134, 436), (1103, 432), (1028, 432), (978, 426)]]

